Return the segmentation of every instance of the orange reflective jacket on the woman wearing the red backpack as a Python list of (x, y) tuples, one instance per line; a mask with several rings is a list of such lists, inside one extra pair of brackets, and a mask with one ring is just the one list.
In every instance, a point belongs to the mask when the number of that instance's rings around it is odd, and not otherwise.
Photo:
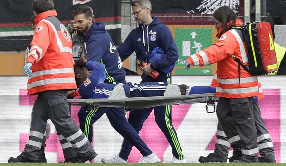
[[(242, 25), (237, 20), (235, 26)], [(240, 34), (239, 34), (240, 33)], [(241, 31), (231, 29), (221, 35), (219, 41), (212, 46), (191, 55), (187, 62), (193, 66), (205, 66), (217, 62), (216, 96), (225, 98), (246, 98), (258, 96), (258, 78), (251, 75), (232, 59), (239, 58), (244, 65), (249, 65), (244, 38)], [(239, 78), (240, 75), (240, 78)]]

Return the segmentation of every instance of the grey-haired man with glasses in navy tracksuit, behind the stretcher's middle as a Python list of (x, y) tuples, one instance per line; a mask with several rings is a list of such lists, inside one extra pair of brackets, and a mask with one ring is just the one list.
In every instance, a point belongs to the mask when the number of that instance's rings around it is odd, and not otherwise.
[[(169, 66), (174, 67), (178, 59), (178, 50), (169, 28), (162, 24), (156, 17), (151, 17), (152, 5), (149, 0), (132, 0), (131, 15), (136, 19), (139, 27), (133, 29), (125, 41), (117, 47), (120, 58), (124, 61), (134, 51), (136, 57), (141, 62), (148, 65), (142, 68), (141, 83), (143, 82), (165, 82), (171, 84), (171, 72), (163, 72), (162, 69)], [(160, 47), (165, 54), (155, 59), (152, 63), (149, 61), (149, 54), (156, 48)], [(152, 78), (149, 74), (157, 71), (160, 75), (157, 79)], [(155, 121), (164, 133), (172, 147), (174, 155), (171, 163), (186, 163), (177, 133), (171, 121), (171, 106), (158, 106), (147, 109), (134, 109), (130, 112), (129, 123), (139, 132), (143, 123), (154, 109)], [(150, 131), (151, 132), (151, 131)], [(104, 163), (121, 163), (127, 162), (128, 156), (132, 150), (132, 143), (124, 139), (119, 155), (112, 158), (102, 158)]]

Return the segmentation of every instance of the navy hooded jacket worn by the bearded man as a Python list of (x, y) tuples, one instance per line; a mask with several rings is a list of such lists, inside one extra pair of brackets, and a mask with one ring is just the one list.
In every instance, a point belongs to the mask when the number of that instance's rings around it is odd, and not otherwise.
[(101, 22), (93, 22), (86, 35), (87, 61), (96, 61), (105, 65), (105, 83), (125, 83), (125, 70), (114, 43)]

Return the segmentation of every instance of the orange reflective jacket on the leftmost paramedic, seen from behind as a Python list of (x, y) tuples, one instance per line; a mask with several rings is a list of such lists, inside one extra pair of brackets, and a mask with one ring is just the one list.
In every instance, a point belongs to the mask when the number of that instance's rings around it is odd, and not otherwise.
[(28, 77), (28, 94), (47, 90), (76, 89), (73, 70), (72, 39), (57, 12), (49, 10), (35, 18), (37, 24), (29, 57), (32, 74)]

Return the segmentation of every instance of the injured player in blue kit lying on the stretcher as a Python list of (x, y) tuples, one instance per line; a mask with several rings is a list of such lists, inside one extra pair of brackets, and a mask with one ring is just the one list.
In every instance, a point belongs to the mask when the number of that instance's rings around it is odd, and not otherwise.
[[(102, 63), (89, 61), (81, 57), (74, 65), (75, 79), (82, 98), (108, 98), (115, 84), (104, 83), (106, 73)], [(163, 82), (144, 82), (140, 84), (126, 83), (123, 85), (126, 97), (163, 96), (167, 84)], [(178, 85), (181, 95), (190, 94), (191, 88), (187, 85)], [(215, 88), (210, 87), (213, 91)]]

